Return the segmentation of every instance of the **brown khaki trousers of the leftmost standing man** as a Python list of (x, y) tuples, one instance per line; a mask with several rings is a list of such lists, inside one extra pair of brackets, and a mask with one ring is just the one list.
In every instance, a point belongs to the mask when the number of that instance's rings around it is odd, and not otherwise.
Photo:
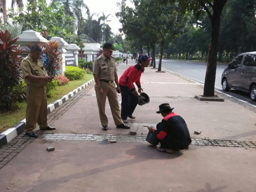
[(25, 132), (30, 133), (39, 125), (44, 129), (47, 124), (47, 96), (46, 87), (32, 87), (27, 85), (27, 110)]

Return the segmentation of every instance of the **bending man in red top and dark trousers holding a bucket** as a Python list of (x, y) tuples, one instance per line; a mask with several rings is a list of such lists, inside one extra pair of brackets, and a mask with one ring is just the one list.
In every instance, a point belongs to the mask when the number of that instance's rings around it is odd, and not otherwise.
[[(143, 91), (141, 88), (141, 74), (145, 70), (145, 67), (149, 66), (149, 61), (151, 61), (151, 58), (147, 57), (147, 55), (141, 55), (138, 64), (126, 69), (119, 79), (122, 94), (121, 117), (124, 123), (127, 123), (127, 117), (135, 119), (133, 117), (133, 111), (138, 104), (138, 92), (141, 93)], [(138, 92), (133, 83), (136, 83), (138, 86)]]

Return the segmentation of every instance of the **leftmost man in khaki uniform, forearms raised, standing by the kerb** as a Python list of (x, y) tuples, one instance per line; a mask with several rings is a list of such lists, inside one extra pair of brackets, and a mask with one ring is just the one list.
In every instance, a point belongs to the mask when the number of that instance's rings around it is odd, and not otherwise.
[(52, 79), (47, 75), (42, 61), (39, 58), (42, 49), (39, 45), (33, 45), (30, 54), (21, 62), (21, 70), (25, 82), (27, 83), (26, 97), (26, 135), (37, 138), (34, 133), (35, 126), (39, 125), (41, 130), (55, 130), (47, 124), (47, 100), (46, 83)]

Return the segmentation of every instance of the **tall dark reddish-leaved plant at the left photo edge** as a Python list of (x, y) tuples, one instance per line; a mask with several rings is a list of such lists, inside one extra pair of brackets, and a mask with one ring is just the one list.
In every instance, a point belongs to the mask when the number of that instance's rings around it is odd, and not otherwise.
[(8, 31), (0, 31), (0, 110), (10, 110), (13, 105), (13, 87), (22, 81), (20, 63), (22, 50), (11, 39)]

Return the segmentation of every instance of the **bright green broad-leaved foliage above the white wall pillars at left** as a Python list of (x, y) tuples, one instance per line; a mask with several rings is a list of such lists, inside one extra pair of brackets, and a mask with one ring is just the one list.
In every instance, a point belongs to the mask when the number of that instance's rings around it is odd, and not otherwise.
[[(57, 2), (47, 5), (45, 0), (38, 0), (37, 3), (28, 1), (25, 11), (18, 10), (17, 13), (11, 11), (8, 16), (12, 18), (13, 24), (23, 25), (22, 30), (41, 32), (42, 26), (46, 26), (51, 31), (51, 37), (58, 36), (66, 39), (75, 29), (74, 18), (65, 15), (64, 6)], [(71, 26), (69, 30), (65, 29), (66, 25)]]

